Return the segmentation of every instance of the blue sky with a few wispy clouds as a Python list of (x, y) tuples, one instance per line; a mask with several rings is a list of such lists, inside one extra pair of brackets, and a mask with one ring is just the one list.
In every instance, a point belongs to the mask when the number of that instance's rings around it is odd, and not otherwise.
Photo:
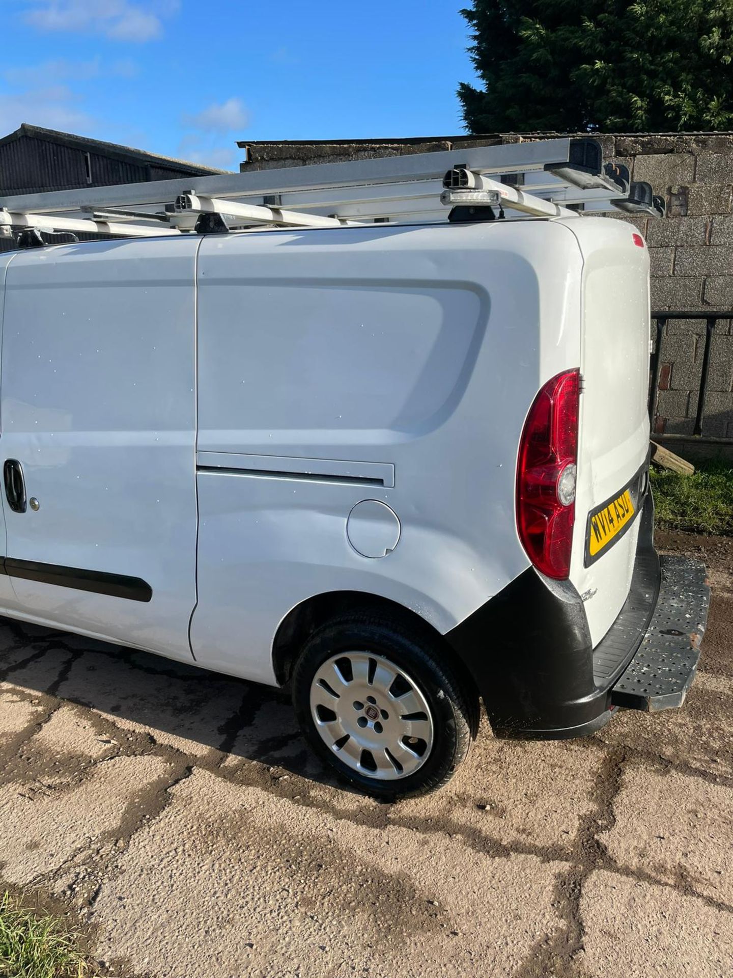
[(461, 0), (0, 0), (21, 122), (237, 169), (237, 139), (462, 131)]

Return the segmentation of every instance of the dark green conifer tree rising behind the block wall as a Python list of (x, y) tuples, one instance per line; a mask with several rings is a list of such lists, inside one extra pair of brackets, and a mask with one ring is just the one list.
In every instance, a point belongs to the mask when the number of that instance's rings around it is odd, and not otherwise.
[(472, 0), (481, 87), (458, 88), (489, 132), (733, 128), (733, 0)]

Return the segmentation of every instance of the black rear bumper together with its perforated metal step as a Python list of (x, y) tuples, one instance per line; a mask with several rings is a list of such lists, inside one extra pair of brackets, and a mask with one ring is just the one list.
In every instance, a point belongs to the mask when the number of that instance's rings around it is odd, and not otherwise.
[(686, 557), (657, 556), (651, 494), (640, 519), (628, 598), (595, 649), (573, 585), (534, 568), (448, 634), (497, 736), (583, 736), (618, 707), (683, 702), (705, 631), (706, 571)]

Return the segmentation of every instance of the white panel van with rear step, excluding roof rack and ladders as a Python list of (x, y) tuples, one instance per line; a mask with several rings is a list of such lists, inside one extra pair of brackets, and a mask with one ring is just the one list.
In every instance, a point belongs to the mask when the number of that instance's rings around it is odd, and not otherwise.
[(708, 591), (653, 546), (648, 277), (601, 217), (4, 254), (0, 611), (288, 687), (384, 798), (482, 700), (505, 737), (680, 705)]

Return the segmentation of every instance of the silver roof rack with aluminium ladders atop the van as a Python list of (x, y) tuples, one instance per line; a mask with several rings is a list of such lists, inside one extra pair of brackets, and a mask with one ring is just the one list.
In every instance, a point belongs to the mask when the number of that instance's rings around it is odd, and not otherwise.
[[(448, 209), (450, 208), (450, 209)], [(0, 198), (0, 234), (159, 237), (234, 229), (579, 216), (663, 216), (664, 200), (604, 165), (593, 139), (387, 156)], [(509, 211), (506, 214), (505, 211)], [(28, 229), (35, 229), (28, 231)]]

